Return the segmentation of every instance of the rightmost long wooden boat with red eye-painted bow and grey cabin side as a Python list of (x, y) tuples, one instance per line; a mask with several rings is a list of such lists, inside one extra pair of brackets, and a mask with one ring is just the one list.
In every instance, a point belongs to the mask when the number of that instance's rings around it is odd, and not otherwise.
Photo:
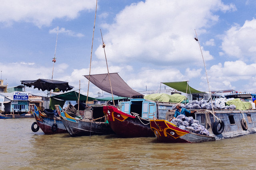
[[(167, 116), (172, 117), (174, 112), (169, 111)], [(256, 132), (256, 110), (222, 109), (212, 115), (211, 111), (198, 109), (194, 117), (209, 131), (209, 136), (182, 130), (166, 120), (150, 120), (150, 126), (158, 141), (168, 143), (212, 141)]]

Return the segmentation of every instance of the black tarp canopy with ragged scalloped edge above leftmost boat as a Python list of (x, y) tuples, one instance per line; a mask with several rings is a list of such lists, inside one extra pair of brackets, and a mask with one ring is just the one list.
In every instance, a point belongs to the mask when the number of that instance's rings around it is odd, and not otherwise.
[(73, 86), (68, 85), (68, 82), (58, 81), (58, 80), (49, 80), (49, 79), (38, 79), (38, 80), (22, 80), (21, 84), (25, 86), (38, 88), (38, 90), (55, 90), (58, 88), (60, 91), (65, 92), (74, 88)]

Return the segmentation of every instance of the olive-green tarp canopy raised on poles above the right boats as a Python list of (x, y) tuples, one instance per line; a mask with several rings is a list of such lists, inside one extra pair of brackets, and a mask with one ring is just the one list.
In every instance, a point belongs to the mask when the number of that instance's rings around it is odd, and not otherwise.
[(171, 88), (174, 88), (175, 90), (178, 90), (180, 92), (183, 93), (204, 93), (204, 92), (200, 92), (192, 87), (190, 87), (188, 85), (188, 82), (184, 81), (184, 82), (164, 82), (162, 84), (165, 84), (166, 86), (169, 86)]

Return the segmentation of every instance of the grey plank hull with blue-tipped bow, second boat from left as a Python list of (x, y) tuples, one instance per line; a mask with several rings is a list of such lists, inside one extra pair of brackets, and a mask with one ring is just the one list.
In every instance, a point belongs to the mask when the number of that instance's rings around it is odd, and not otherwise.
[(55, 107), (64, 126), (72, 137), (109, 135), (114, 133), (108, 123), (75, 119), (68, 115), (68, 113), (66, 113), (59, 105), (56, 105)]

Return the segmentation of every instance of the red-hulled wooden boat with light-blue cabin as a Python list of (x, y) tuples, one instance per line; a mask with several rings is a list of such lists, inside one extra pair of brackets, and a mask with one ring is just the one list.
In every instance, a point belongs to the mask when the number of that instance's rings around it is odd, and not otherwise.
[(166, 111), (172, 109), (171, 103), (154, 102), (145, 99), (131, 99), (122, 102), (121, 110), (104, 106), (112, 130), (122, 137), (153, 137), (150, 120), (166, 119)]

